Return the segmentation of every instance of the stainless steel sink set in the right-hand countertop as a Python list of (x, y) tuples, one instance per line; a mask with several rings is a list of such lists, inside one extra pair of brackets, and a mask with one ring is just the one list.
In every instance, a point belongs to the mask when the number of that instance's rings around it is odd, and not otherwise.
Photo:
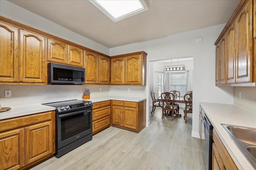
[(256, 169), (256, 129), (236, 125), (220, 125), (250, 164)]

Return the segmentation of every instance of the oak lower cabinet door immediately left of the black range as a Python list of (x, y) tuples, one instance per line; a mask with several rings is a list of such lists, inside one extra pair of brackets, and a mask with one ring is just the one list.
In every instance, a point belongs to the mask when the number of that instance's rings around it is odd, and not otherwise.
[(52, 121), (30, 125), (25, 128), (26, 164), (52, 154), (52, 133)]

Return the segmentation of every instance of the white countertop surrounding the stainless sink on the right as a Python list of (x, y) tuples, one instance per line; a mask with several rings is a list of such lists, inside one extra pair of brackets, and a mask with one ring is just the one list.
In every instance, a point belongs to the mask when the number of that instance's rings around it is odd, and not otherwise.
[(254, 168), (236, 147), (220, 124), (238, 125), (256, 128), (256, 113), (232, 104), (214, 104), (200, 102), (207, 117), (212, 123), (222, 143), (236, 163), (238, 169), (253, 170)]

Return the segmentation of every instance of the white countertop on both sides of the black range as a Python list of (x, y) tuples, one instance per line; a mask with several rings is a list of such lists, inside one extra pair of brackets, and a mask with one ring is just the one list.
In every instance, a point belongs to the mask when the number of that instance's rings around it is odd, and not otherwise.
[[(78, 100), (83, 100), (83, 99), (80, 98)], [(133, 97), (122, 97), (122, 96), (103, 96), (103, 97), (98, 97), (98, 98), (90, 98), (87, 100), (92, 101), (92, 103), (103, 102), (103, 101), (107, 101), (107, 100), (141, 102), (143, 100), (146, 100), (146, 98), (133, 98)], [(44, 102), (44, 103), (46, 103), (46, 102)], [(34, 113), (41, 113), (44, 111), (52, 111), (52, 110), (55, 110), (55, 107), (46, 106), (46, 105), (42, 105), (42, 104), (30, 104), (30, 105), (24, 105), (24, 106), (15, 106), (15, 107), (12, 107), (9, 111), (0, 112), (0, 120), (12, 118), (12, 117), (24, 116), (24, 115), (31, 115)]]

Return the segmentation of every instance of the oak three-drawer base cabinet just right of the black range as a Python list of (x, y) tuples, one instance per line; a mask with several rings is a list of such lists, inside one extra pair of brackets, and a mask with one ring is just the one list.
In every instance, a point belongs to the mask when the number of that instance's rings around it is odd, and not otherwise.
[(92, 135), (110, 127), (110, 100), (92, 106)]

